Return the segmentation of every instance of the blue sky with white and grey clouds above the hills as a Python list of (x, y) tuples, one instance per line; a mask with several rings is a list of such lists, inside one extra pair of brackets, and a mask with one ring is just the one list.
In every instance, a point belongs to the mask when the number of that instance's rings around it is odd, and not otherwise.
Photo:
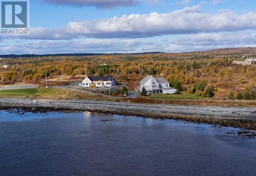
[(30, 0), (30, 35), (0, 54), (189, 52), (256, 47), (254, 0)]

